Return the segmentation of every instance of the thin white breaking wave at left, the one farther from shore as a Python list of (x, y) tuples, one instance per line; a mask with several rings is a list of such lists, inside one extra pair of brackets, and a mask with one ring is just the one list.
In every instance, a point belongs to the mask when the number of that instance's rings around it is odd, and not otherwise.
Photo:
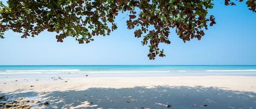
[(5, 72), (78, 72), (80, 69), (5, 70)]

